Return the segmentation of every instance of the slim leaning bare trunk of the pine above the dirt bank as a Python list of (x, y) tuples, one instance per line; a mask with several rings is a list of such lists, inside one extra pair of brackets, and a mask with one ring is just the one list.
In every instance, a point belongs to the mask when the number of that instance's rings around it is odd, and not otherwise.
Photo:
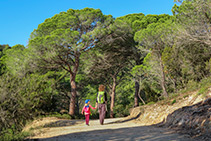
[(164, 67), (163, 67), (163, 61), (161, 58), (161, 54), (158, 53), (159, 56), (159, 62), (160, 62), (160, 71), (161, 71), (161, 87), (163, 89), (163, 96), (164, 97), (168, 97), (168, 93), (166, 91), (166, 78), (165, 78), (165, 74), (164, 74)]

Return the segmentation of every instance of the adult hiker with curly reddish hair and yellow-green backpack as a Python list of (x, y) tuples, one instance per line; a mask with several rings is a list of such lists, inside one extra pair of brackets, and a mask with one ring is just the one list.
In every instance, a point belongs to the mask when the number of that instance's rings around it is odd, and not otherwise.
[(96, 106), (98, 107), (99, 119), (100, 119), (101, 125), (103, 125), (104, 118), (105, 118), (105, 115), (106, 115), (106, 110), (107, 110), (106, 104), (107, 104), (107, 94), (105, 92), (105, 86), (100, 85), (99, 91), (97, 93)]

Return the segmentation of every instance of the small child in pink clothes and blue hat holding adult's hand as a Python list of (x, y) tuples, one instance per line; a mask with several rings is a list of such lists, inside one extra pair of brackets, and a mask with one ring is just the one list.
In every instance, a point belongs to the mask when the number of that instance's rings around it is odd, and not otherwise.
[(85, 115), (86, 125), (88, 125), (88, 126), (89, 126), (89, 116), (91, 114), (90, 108), (96, 109), (95, 107), (92, 107), (91, 105), (89, 105), (89, 103), (90, 103), (90, 99), (85, 100), (85, 105), (84, 105), (82, 112), (81, 112), (82, 115), (83, 114)]

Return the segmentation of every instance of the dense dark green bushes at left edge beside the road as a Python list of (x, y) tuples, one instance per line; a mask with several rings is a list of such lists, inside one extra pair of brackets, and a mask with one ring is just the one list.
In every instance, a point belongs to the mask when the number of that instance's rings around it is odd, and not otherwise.
[(27, 120), (53, 108), (52, 96), (56, 95), (56, 91), (52, 89), (54, 81), (48, 77), (49, 74), (31, 74), (23, 79), (11, 74), (1, 77), (0, 131), (12, 127), (17, 132), (21, 131)]

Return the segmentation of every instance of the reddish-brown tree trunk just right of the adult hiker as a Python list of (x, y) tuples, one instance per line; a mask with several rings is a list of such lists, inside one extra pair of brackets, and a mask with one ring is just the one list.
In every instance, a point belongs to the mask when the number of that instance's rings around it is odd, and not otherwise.
[(114, 104), (115, 104), (115, 94), (116, 94), (116, 76), (112, 77), (113, 79), (113, 85), (111, 90), (111, 105), (110, 105), (110, 117), (114, 118)]

